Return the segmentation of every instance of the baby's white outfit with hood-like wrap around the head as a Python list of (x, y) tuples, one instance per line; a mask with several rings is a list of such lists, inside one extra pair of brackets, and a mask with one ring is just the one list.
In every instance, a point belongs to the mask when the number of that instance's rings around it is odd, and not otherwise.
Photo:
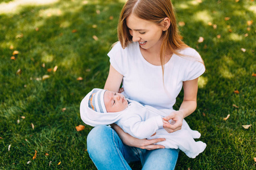
[[(179, 148), (189, 158), (195, 158), (204, 151), (206, 144), (194, 138), (200, 138), (200, 133), (191, 130), (185, 120), (181, 130), (174, 133), (167, 133), (163, 129), (162, 117), (172, 112), (170, 109), (156, 109), (149, 105), (142, 105), (137, 101), (129, 100), (129, 106), (121, 112), (99, 113), (93, 111), (88, 106), (89, 96), (92, 92), (84, 97), (80, 105), (80, 115), (82, 121), (90, 126), (117, 124), (126, 133), (129, 133), (139, 139), (166, 138), (166, 141), (158, 142), (166, 148)], [(162, 115), (162, 116), (160, 116)], [(152, 134), (156, 134), (151, 137)]]

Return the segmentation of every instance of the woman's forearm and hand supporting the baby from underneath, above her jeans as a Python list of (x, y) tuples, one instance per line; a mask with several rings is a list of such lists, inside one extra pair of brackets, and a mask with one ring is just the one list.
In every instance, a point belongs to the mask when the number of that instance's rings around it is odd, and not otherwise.
[(138, 139), (132, 137), (130, 134), (125, 133), (118, 125), (112, 124), (112, 128), (117, 132), (119, 137), (121, 138), (122, 142), (125, 145), (132, 146), (132, 147), (139, 147), (146, 150), (155, 150), (158, 148), (164, 148), (162, 145), (155, 145), (154, 143), (165, 141), (164, 138), (157, 138), (157, 139)]

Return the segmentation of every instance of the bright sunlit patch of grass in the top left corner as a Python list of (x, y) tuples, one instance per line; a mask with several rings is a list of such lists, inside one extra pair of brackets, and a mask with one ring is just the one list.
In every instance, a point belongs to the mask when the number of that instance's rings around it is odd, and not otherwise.
[(41, 6), (56, 3), (59, 0), (16, 0), (9, 3), (0, 3), (0, 14), (18, 14), (22, 6)]

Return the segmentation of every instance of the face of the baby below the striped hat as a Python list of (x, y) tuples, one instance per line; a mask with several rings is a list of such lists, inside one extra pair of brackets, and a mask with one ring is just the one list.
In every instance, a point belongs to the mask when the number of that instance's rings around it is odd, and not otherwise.
[(121, 112), (128, 107), (125, 96), (108, 90), (104, 94), (104, 103), (107, 112)]

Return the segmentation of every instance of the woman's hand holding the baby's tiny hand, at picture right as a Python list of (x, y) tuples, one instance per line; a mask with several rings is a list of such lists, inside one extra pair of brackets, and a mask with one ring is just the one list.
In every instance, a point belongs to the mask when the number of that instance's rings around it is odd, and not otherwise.
[(174, 131), (180, 130), (182, 126), (182, 121), (184, 119), (183, 112), (174, 111), (168, 116), (164, 117), (163, 120), (170, 121), (171, 124), (163, 124), (163, 128), (168, 132), (172, 133)]

